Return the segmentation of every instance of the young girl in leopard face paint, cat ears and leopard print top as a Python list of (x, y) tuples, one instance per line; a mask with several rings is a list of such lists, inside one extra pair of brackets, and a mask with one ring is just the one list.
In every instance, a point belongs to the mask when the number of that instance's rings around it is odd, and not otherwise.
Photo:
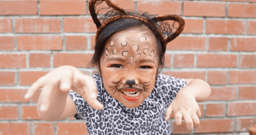
[[(187, 130), (192, 131), (201, 115), (196, 102), (208, 98), (209, 85), (200, 79), (158, 74), (164, 65), (166, 44), (182, 32), (183, 19), (150, 18), (127, 12), (109, 0), (104, 2), (109, 9), (99, 17), (106, 9), (100, 5), (103, 1), (89, 2), (98, 27), (91, 64), (99, 74), (90, 77), (75, 67), (61, 66), (33, 83), (25, 98), (43, 87), (38, 116), (55, 121), (74, 115), (86, 122), (89, 134), (170, 134), (172, 113), (176, 125), (184, 118)], [(159, 32), (161, 21), (168, 19), (179, 23), (177, 30), (173, 33), (165, 27), (165, 32)]]

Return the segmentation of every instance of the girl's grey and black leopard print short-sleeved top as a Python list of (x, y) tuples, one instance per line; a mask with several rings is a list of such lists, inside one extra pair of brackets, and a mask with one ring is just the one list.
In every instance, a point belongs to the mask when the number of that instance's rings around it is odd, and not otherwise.
[(171, 134), (165, 110), (177, 92), (187, 85), (185, 79), (159, 74), (149, 97), (137, 108), (126, 108), (107, 93), (99, 74), (92, 77), (98, 90), (97, 99), (104, 105), (102, 110), (91, 108), (83, 97), (72, 90), (69, 92), (78, 111), (74, 117), (85, 120), (90, 135)]

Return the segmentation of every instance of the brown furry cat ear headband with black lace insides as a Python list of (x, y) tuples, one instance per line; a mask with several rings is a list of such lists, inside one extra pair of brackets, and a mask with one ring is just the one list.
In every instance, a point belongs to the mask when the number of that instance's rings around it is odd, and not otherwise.
[(98, 30), (95, 41), (97, 42), (101, 31), (111, 22), (133, 18), (153, 28), (157, 36), (162, 39), (162, 48), (165, 52), (166, 44), (176, 38), (183, 31), (185, 21), (177, 15), (159, 15), (150, 19), (126, 12), (111, 0), (90, 0), (89, 11)]

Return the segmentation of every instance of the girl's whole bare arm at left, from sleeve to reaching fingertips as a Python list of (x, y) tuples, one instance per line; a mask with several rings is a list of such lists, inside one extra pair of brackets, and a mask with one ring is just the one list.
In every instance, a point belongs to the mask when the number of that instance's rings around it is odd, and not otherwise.
[(61, 66), (34, 82), (24, 96), (31, 98), (42, 87), (37, 114), (45, 121), (65, 119), (77, 113), (76, 105), (68, 96), (69, 90), (77, 92), (94, 109), (103, 105), (97, 100), (97, 89), (92, 77), (84, 75), (72, 66)]

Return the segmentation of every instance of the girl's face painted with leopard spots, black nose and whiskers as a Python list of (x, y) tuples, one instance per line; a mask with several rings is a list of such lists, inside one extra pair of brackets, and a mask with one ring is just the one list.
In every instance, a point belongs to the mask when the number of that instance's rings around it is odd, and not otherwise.
[(152, 31), (138, 28), (119, 31), (105, 44), (100, 60), (104, 87), (127, 108), (140, 106), (153, 90), (158, 66), (156, 45)]

